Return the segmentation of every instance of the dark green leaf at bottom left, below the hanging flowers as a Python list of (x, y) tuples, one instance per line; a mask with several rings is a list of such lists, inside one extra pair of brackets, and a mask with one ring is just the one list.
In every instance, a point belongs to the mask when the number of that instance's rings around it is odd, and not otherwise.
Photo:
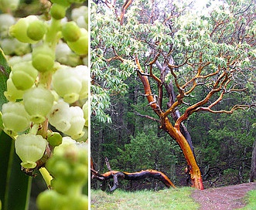
[(2, 210), (28, 209), (32, 178), (21, 171), (14, 141), (4, 132), (0, 134), (0, 160)]

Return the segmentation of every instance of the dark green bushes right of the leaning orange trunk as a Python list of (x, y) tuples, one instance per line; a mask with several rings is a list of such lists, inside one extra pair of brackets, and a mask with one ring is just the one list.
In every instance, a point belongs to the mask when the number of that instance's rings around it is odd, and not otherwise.
[(232, 115), (196, 113), (189, 118), (187, 127), (203, 175), (217, 167), (220, 174), (213, 172), (209, 179), (221, 176), (224, 185), (247, 182), (255, 141), (254, 119), (254, 110), (235, 111)]

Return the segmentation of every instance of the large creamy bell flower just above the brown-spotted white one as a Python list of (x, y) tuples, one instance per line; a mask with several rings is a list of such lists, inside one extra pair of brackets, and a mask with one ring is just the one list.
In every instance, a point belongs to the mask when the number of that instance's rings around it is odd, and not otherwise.
[(53, 74), (53, 88), (67, 103), (74, 103), (79, 99), (82, 83), (73, 68), (58, 69)]

